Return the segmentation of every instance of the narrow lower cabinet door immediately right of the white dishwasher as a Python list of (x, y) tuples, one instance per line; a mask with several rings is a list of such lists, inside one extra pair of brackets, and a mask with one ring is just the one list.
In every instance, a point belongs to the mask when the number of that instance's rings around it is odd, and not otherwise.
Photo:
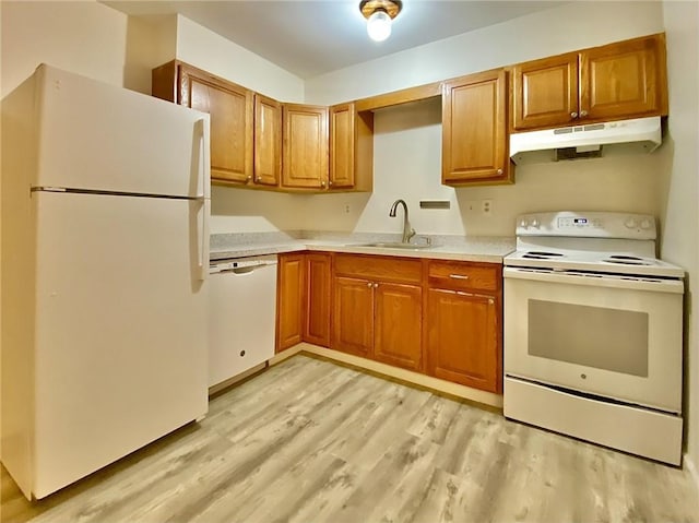
[(304, 332), (304, 254), (280, 254), (276, 290), (276, 352), (301, 342)]

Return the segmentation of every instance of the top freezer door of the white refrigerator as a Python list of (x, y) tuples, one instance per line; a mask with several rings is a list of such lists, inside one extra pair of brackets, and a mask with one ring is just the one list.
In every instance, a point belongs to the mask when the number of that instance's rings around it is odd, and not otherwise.
[(48, 66), (34, 187), (209, 197), (209, 115)]

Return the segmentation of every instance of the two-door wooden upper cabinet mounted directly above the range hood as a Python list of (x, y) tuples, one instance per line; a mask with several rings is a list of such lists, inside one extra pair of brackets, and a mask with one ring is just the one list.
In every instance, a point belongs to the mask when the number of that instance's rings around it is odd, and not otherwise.
[(511, 78), (512, 131), (667, 115), (663, 34), (520, 63)]

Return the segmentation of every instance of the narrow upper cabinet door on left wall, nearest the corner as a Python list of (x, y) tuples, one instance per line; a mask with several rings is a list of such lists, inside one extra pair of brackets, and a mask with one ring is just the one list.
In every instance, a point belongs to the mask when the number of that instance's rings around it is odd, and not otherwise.
[(282, 176), (282, 104), (254, 95), (254, 182), (279, 186)]

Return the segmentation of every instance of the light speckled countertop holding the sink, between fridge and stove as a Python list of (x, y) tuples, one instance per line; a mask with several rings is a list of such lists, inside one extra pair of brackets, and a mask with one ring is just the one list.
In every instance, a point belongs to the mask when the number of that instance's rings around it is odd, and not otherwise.
[(210, 259), (216, 261), (310, 250), (501, 263), (502, 258), (514, 250), (514, 238), (501, 236), (429, 235), (414, 238), (413, 243), (425, 245), (427, 238), (433, 243), (430, 247), (405, 249), (367, 246), (400, 241), (400, 236), (390, 234), (292, 231), (212, 235)]

